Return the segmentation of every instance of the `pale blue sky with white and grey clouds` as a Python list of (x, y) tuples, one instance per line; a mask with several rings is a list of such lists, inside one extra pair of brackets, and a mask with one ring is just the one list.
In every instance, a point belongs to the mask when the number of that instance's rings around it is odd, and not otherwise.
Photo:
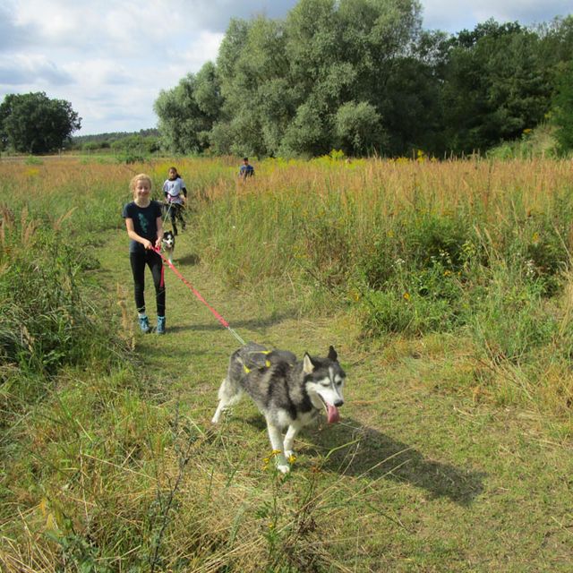
[[(297, 0), (0, 0), (0, 102), (43, 91), (81, 116), (74, 135), (157, 125), (153, 102), (215, 61), (231, 18), (286, 16)], [(455, 33), (493, 18), (530, 25), (571, 0), (422, 0), (423, 28)]]

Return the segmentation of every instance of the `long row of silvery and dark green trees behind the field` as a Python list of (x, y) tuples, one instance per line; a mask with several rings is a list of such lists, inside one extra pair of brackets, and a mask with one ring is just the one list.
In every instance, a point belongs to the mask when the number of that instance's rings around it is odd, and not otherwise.
[(573, 147), (573, 16), (423, 30), (417, 0), (300, 0), (233, 19), (215, 63), (158, 95), (173, 153), (440, 157), (543, 122)]

